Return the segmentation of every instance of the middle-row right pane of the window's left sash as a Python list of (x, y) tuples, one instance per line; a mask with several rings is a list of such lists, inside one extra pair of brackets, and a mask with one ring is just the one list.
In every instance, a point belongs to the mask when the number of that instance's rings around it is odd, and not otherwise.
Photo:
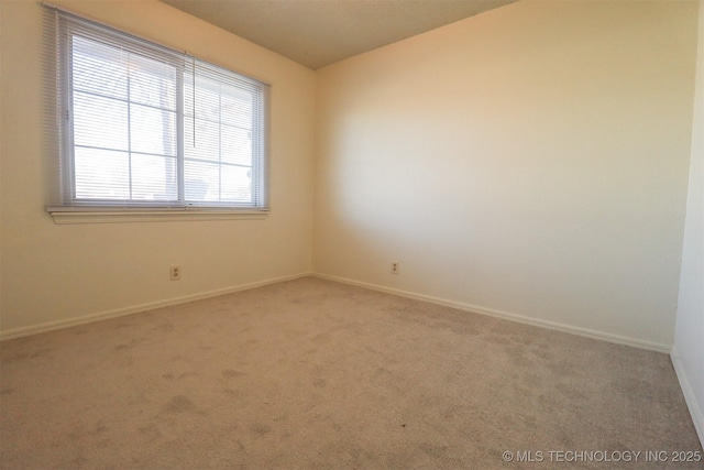
[(176, 155), (176, 113), (141, 105), (130, 107), (132, 151)]

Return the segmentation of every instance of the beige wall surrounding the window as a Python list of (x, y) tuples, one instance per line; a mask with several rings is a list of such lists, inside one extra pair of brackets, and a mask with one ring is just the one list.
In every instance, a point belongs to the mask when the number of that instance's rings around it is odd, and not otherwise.
[[(42, 7), (1, 1), (1, 328), (22, 331), (307, 273), (311, 267), (315, 75), (164, 3), (57, 0), (272, 87), (266, 220), (54, 225), (44, 210)], [(183, 278), (168, 280), (179, 264)]]

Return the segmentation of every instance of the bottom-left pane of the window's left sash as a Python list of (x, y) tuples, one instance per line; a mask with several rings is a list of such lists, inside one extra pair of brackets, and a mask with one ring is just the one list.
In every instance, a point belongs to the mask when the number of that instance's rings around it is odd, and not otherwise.
[(76, 147), (77, 199), (129, 199), (130, 157), (127, 152)]

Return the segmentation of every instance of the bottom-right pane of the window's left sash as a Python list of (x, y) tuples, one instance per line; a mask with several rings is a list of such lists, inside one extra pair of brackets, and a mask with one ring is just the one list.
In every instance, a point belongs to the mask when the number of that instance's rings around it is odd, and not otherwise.
[(132, 154), (132, 198), (178, 199), (176, 159)]

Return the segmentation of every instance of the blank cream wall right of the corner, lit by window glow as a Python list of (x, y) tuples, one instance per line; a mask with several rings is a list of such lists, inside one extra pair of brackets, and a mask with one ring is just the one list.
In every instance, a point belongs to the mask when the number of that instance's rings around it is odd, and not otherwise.
[(520, 1), (319, 70), (315, 271), (668, 349), (696, 11)]

